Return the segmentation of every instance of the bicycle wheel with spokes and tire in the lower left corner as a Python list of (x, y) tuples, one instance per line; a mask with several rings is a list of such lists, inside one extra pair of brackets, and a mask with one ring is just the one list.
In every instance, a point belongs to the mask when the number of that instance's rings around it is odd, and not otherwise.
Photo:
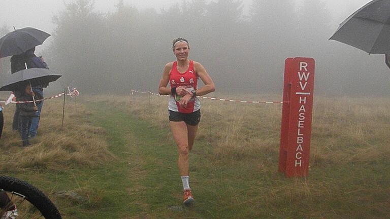
[[(9, 197), (7, 207), (0, 211), (0, 218), (10, 208), (16, 207), (17, 218), (60, 219), (61, 215), (50, 199), (27, 182), (0, 175), (0, 189)], [(7, 218), (7, 217), (5, 217)], [(14, 217), (9, 217), (14, 218)]]

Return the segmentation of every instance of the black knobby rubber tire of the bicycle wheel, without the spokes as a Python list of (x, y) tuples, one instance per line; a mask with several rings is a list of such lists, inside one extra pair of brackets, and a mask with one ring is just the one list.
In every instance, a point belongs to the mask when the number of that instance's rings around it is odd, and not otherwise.
[[(43, 192), (36, 187), (31, 186), (28, 182), (11, 176), (0, 175), (0, 189), (9, 193), (11, 196), (18, 197), (18, 199), (20, 198), (22, 200), (20, 204), (24, 203), (26, 200), (34, 206), (39, 211), (39, 214), (41, 214), (34, 218), (61, 219), (61, 215), (53, 202)], [(17, 205), (18, 203), (13, 202), (19, 210), (20, 207)], [(20, 213), (23, 215), (27, 214), (24, 212)], [(20, 215), (20, 213), (17, 218), (24, 217), (23, 215)], [(31, 218), (31, 216), (25, 216), (25, 218)]]

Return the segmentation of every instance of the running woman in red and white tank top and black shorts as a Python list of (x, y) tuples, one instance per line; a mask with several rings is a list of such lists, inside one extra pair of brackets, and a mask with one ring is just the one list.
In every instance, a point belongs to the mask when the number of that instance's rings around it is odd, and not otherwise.
[[(192, 149), (201, 120), (201, 103), (197, 96), (213, 92), (215, 86), (205, 67), (188, 59), (189, 44), (186, 39), (174, 39), (172, 49), (176, 61), (165, 65), (158, 92), (171, 95), (168, 103), (169, 124), (179, 155), (177, 163), (183, 182), (183, 204), (189, 205), (194, 199), (189, 187), (188, 152)], [(199, 89), (198, 79), (204, 83)], [(168, 83), (170, 88), (167, 87)]]

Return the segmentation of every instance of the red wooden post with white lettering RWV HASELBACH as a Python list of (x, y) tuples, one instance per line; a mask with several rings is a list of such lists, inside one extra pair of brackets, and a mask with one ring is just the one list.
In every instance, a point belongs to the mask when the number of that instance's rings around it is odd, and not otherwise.
[(279, 171), (286, 177), (309, 171), (314, 74), (313, 58), (285, 60)]

